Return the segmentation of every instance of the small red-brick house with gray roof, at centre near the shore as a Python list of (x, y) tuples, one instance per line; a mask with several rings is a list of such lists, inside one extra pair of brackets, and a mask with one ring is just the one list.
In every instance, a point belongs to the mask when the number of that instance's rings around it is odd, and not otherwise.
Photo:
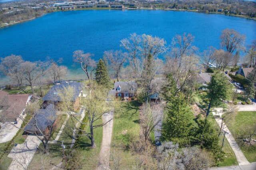
[(136, 82), (114, 82), (114, 89), (111, 90), (112, 94), (121, 98), (132, 98), (137, 94)]

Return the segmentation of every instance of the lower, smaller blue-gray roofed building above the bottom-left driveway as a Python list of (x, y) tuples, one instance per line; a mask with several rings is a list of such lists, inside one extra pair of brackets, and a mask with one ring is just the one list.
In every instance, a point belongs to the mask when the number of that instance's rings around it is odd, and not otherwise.
[[(39, 109), (24, 129), (24, 133), (45, 135), (52, 132), (57, 118), (54, 105), (49, 104), (45, 109)], [(43, 133), (43, 134), (42, 134)]]

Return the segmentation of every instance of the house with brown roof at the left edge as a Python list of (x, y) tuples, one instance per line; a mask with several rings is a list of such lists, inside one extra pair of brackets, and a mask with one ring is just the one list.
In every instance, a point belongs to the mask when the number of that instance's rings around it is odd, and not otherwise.
[(0, 115), (1, 121), (17, 121), (19, 115), (24, 111), (32, 94), (8, 94), (0, 91)]

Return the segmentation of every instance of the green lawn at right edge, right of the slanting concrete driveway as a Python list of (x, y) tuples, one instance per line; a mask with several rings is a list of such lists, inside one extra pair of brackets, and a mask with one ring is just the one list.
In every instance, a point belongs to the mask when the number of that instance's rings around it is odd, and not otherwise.
[[(224, 120), (225, 122), (225, 120)], [(249, 149), (248, 145), (244, 144), (239, 138), (247, 138), (249, 136), (244, 136), (249, 132), (250, 127), (256, 126), (256, 111), (240, 111), (236, 114), (234, 119), (225, 122), (228, 129), (232, 133), (239, 147), (241, 148), (244, 156), (249, 162), (256, 161), (256, 144), (252, 145)], [(256, 139), (256, 134), (254, 134), (252, 139)]]

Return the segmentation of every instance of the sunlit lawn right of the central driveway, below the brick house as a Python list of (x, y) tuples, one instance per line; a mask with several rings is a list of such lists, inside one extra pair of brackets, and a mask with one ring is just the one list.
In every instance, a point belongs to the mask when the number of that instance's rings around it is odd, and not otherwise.
[[(122, 109), (114, 113), (111, 151), (115, 150), (122, 158), (121, 169), (133, 169), (134, 159), (128, 146), (130, 140), (140, 135), (139, 104), (136, 101), (120, 102), (120, 104)], [(150, 133), (150, 138), (154, 138), (154, 133)], [(120, 144), (122, 149), (118, 148)], [(110, 166), (113, 166), (111, 158)]]

